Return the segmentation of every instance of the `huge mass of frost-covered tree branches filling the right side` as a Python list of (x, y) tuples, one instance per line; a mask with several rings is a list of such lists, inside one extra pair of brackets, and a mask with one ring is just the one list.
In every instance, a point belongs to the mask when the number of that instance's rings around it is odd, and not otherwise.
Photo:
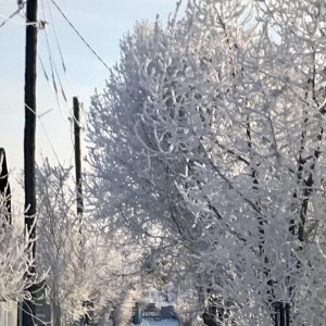
[(189, 1), (125, 37), (92, 98), (99, 216), (155, 239), (151, 266), (178, 256), (209, 325), (324, 325), (325, 13)]

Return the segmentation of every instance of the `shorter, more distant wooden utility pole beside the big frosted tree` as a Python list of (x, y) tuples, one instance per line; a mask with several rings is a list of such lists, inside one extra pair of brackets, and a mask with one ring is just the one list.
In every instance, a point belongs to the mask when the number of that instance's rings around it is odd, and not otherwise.
[[(82, 222), (84, 212), (83, 180), (82, 180), (82, 146), (80, 146), (80, 105), (77, 97), (74, 97), (74, 134), (75, 134), (75, 166), (77, 187), (77, 215)], [(80, 226), (82, 231), (82, 226)]]

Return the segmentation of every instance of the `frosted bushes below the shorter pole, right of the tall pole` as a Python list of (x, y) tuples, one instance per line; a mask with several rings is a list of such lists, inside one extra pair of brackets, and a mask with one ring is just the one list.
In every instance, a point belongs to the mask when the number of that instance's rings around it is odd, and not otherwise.
[(58, 325), (71, 325), (86, 313), (100, 318), (128, 283), (123, 256), (111, 246), (103, 225), (89, 212), (77, 215), (71, 168), (37, 168), (38, 265), (49, 269), (48, 299)]

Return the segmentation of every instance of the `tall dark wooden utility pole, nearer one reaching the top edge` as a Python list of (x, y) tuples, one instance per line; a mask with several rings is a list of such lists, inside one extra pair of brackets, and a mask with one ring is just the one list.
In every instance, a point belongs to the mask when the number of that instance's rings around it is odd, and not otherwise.
[[(36, 185), (35, 185), (35, 131), (36, 131), (36, 61), (37, 61), (37, 0), (26, 3), (26, 49), (25, 49), (25, 131), (24, 131), (24, 172), (25, 172), (25, 225), (30, 239), (36, 238)], [(30, 244), (35, 258), (35, 241)], [(29, 266), (30, 274), (36, 273), (36, 266)], [(28, 277), (28, 276), (27, 276)], [(28, 289), (33, 298), (36, 286)], [(32, 301), (23, 302), (23, 326), (34, 326), (36, 305)]]

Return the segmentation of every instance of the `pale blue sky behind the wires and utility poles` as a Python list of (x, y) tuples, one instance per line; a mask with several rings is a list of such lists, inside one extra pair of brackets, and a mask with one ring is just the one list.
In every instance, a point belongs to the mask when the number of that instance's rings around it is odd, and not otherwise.
[[(42, 2), (45, 3), (45, 17)], [(136, 21), (153, 21), (156, 14), (166, 21), (168, 13), (175, 10), (176, 4), (176, 0), (55, 0), (55, 2), (109, 66), (118, 60), (120, 39), (124, 33), (133, 29)], [(62, 70), (48, 3), (53, 15), (70, 82)], [(16, 9), (16, 0), (0, 0), (0, 24)], [(87, 111), (90, 96), (93, 95), (95, 88), (101, 90), (104, 87), (109, 73), (60, 15), (51, 0), (39, 0), (38, 12), (39, 18), (49, 22), (47, 27), (49, 42), (64, 84), (68, 105), (61, 97), (62, 110), (59, 108), (55, 95), (51, 91), (38, 62), (37, 110), (38, 114), (42, 114), (52, 109), (41, 117), (41, 121), (61, 163), (70, 164), (73, 162), (71, 161), (73, 143), (67, 117), (72, 106), (72, 97), (78, 96)], [(23, 166), (24, 23), (24, 17), (16, 15), (0, 28), (0, 147), (7, 150), (9, 167), (16, 168), (16, 171)], [(51, 78), (45, 30), (39, 30), (38, 36), (39, 55)], [(38, 121), (36, 152), (38, 160), (41, 153), (55, 163), (55, 155)]]

